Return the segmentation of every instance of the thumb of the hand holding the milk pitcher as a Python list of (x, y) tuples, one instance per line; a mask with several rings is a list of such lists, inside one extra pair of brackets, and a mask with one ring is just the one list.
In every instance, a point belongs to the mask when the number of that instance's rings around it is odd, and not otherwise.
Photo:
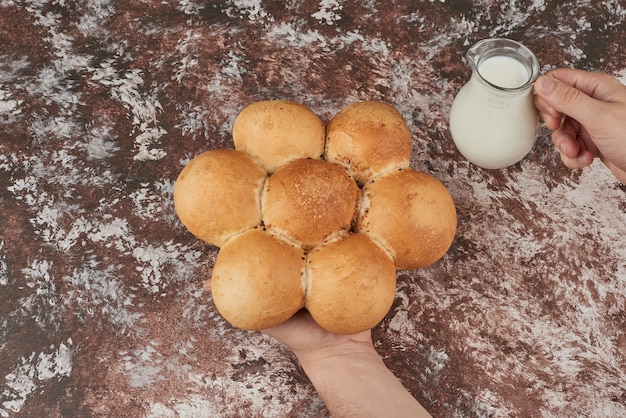
[(587, 129), (594, 123), (594, 116), (604, 102), (588, 96), (582, 90), (549, 75), (540, 76), (535, 82), (535, 93), (552, 109), (576, 119)]

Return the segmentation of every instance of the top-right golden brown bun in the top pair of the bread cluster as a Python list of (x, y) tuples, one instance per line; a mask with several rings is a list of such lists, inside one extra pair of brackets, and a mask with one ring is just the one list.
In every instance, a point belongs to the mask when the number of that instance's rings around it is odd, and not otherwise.
[(372, 178), (408, 167), (411, 132), (389, 103), (365, 101), (342, 109), (326, 127), (326, 161), (341, 164), (359, 185)]

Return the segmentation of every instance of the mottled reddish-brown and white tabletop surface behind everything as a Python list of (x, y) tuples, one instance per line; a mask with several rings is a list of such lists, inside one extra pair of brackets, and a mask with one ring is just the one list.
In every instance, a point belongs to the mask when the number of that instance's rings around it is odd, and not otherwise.
[(433, 416), (625, 416), (626, 187), (545, 131), (507, 169), (458, 154), (464, 53), (494, 36), (626, 81), (622, 0), (0, 0), (0, 417), (328, 416), (289, 352), (221, 319), (217, 249), (172, 204), (278, 98), (325, 121), (391, 102), (454, 197), (452, 248), (398, 273), (373, 330)]

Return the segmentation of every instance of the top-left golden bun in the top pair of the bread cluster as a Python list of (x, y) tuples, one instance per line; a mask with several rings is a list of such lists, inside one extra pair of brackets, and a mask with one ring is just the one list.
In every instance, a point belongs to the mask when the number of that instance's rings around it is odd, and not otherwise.
[(321, 158), (324, 122), (308, 107), (265, 100), (245, 107), (233, 124), (235, 149), (246, 151), (273, 173), (296, 158)]

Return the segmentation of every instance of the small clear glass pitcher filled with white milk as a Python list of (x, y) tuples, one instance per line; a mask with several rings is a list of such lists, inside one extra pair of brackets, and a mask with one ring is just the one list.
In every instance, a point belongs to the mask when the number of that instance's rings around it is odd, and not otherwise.
[(484, 39), (467, 51), (472, 76), (450, 109), (450, 133), (459, 152), (475, 165), (504, 168), (523, 159), (538, 131), (532, 86), (537, 57), (519, 42)]

